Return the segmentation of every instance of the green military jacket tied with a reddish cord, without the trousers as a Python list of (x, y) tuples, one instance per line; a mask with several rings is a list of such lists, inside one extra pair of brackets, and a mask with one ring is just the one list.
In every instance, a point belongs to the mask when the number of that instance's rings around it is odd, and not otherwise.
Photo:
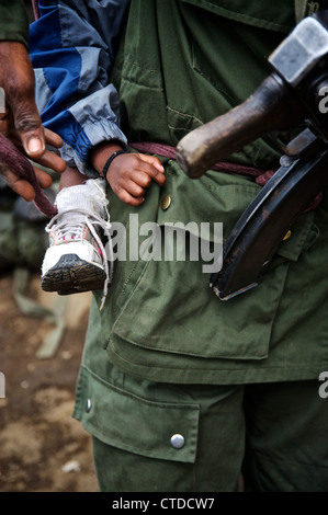
[[(112, 75), (128, 140), (174, 147), (240, 103), (270, 73), (268, 56), (294, 24), (292, 1), (133, 1)], [(264, 170), (278, 167), (280, 154), (278, 142), (264, 136), (229, 160)], [(208, 287), (204, 262), (188, 258), (189, 249), (186, 259), (165, 260), (162, 238), (160, 259), (145, 258), (154, 236), (147, 222), (162, 236), (178, 221), (192, 221), (190, 238), (208, 222), (204, 239), (214, 244), (214, 224), (223, 225), (225, 240), (260, 186), (211, 170), (192, 181), (174, 160), (161, 161), (166, 185), (152, 184), (142, 207), (124, 206), (110, 192), (112, 220), (126, 231), (126, 253), (115, 262), (102, 311), (95, 294), (86, 369), (105, 379), (108, 363), (114, 363), (169, 382), (317, 378), (328, 366), (326, 192), (320, 206), (294, 224), (261, 284), (224, 302)]]

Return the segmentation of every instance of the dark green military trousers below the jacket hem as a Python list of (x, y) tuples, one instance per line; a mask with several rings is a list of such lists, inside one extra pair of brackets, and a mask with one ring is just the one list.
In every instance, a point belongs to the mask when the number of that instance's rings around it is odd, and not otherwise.
[(102, 422), (90, 425), (101, 491), (328, 491), (328, 398), (318, 380), (229, 387), (113, 377)]

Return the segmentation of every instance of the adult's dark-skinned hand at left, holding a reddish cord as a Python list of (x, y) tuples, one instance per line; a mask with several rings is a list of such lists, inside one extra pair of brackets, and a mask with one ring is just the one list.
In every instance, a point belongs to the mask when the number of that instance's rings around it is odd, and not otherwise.
[[(61, 138), (45, 129), (35, 104), (34, 72), (27, 49), (22, 43), (0, 42), (0, 94), (4, 94), (5, 108), (0, 113), (0, 133), (12, 141), (27, 158), (61, 173), (66, 163), (53, 151), (46, 149), (50, 145), (58, 149)], [(4, 102), (2, 102), (4, 107)], [(35, 170), (42, 187), (52, 184), (50, 176)], [(0, 171), (7, 183), (25, 199), (34, 198), (34, 190), (22, 178), (14, 173), (14, 167)]]

